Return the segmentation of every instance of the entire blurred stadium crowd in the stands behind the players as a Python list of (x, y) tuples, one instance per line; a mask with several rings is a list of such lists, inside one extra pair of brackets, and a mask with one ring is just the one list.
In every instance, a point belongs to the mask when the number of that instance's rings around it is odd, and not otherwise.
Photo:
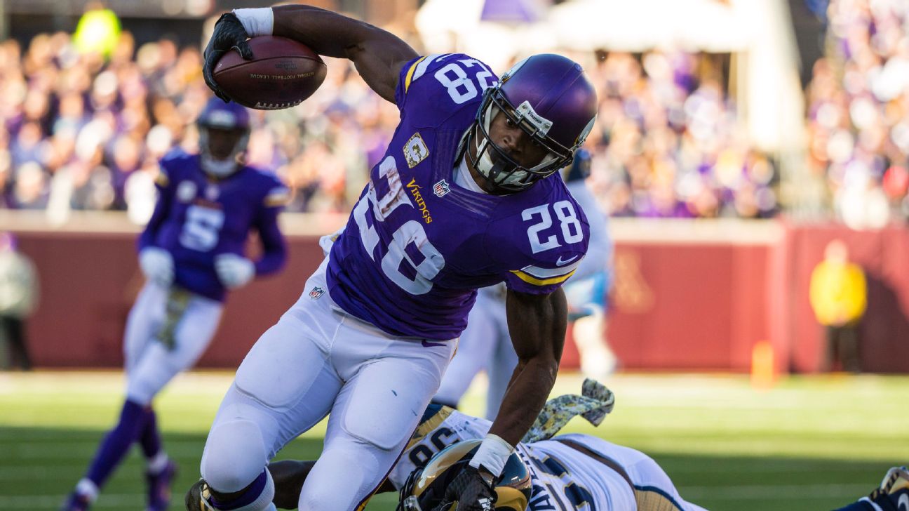
[[(907, 12), (900, 0), (833, 0), (826, 56), (806, 89), (808, 167), (828, 182), (830, 210), (856, 226), (909, 212)], [(174, 145), (195, 150), (208, 92), (197, 47), (119, 37), (106, 57), (64, 33), (0, 43), (0, 207), (150, 215), (156, 161)], [(596, 56), (590, 185), (606, 211), (778, 213), (774, 162), (749, 144), (715, 59)], [(249, 162), (290, 185), (290, 211), (348, 210), (397, 120), (349, 66), (326, 61), (326, 84), (303, 105), (255, 114)]]

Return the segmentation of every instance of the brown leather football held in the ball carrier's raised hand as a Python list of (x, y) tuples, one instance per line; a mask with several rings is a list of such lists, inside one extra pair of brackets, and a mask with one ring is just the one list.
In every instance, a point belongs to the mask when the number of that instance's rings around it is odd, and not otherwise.
[(279, 110), (299, 105), (325, 80), (325, 62), (306, 45), (286, 37), (249, 40), (252, 60), (232, 50), (215, 65), (215, 82), (240, 105)]

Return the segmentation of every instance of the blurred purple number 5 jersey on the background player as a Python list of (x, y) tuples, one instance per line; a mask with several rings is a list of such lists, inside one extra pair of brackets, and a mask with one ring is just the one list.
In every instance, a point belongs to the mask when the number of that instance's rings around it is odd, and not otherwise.
[(175, 150), (161, 160), (155, 183), (155, 213), (139, 236), (139, 249), (164, 248), (174, 257), (174, 283), (195, 294), (224, 300), (215, 273), (215, 255), (244, 255), (251, 229), (258, 232), (263, 256), (255, 274), (274, 273), (285, 262), (284, 236), (277, 215), (287, 188), (274, 175), (241, 167), (223, 179), (206, 175), (198, 155)]

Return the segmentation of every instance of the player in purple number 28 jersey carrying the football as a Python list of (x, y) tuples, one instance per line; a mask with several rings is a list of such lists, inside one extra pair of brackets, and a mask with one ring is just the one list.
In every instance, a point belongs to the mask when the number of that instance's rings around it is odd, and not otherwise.
[[(597, 99), (580, 65), (533, 55), (502, 79), (462, 54), (418, 55), (373, 25), (307, 5), (223, 15), (205, 79), (248, 37), (295, 39), (347, 58), (401, 121), (326, 258), (237, 369), (202, 456), (208, 496), (191, 509), (274, 509), (268, 461), (330, 414), (300, 509), (365, 506), (401, 455), (464, 330), (476, 289), (504, 282), (518, 364), (498, 416), (448, 491), (494, 500), (514, 446), (552, 389), (562, 283), (588, 225), (557, 171), (590, 132)], [(255, 56), (255, 55), (253, 55)]]

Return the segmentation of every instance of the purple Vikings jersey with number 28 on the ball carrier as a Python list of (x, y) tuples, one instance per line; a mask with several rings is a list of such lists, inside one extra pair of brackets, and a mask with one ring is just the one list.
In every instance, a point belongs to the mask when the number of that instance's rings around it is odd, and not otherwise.
[(496, 80), (461, 54), (402, 69), (401, 122), (329, 258), (329, 294), (349, 314), (394, 336), (453, 339), (477, 288), (551, 293), (584, 258), (587, 219), (558, 173), (511, 195), (454, 183), (459, 146)]

